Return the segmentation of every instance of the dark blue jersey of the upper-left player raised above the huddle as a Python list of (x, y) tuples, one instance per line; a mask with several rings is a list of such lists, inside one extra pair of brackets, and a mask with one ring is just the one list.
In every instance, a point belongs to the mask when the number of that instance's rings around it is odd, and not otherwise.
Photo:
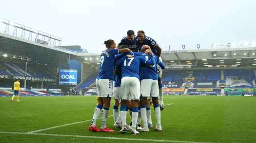
[(133, 52), (140, 52), (140, 49), (138, 48), (136, 41), (138, 37), (135, 35), (134, 40), (132, 42), (129, 41), (128, 37), (123, 37), (122, 40), (117, 44), (118, 46), (128, 46), (131, 51)]

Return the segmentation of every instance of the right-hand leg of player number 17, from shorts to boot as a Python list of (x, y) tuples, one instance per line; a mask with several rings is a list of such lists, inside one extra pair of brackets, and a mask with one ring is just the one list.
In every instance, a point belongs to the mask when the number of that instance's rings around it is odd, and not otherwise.
[(132, 99), (132, 135), (139, 132), (136, 131), (136, 123), (138, 120), (138, 104), (140, 100), (140, 81), (136, 77), (131, 78), (132, 85), (130, 86), (130, 96)]

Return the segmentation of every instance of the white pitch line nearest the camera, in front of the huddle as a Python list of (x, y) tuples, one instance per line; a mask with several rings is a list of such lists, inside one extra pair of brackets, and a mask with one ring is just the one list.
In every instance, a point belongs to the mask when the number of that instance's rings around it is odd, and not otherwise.
[(60, 137), (81, 137), (81, 138), (92, 138), (92, 139), (115, 139), (115, 140), (130, 140), (130, 141), (150, 141), (150, 142), (169, 142), (169, 143), (208, 143), (208, 142), (197, 142), (197, 141), (174, 141), (174, 140), (158, 140), (158, 139), (136, 139), (136, 138), (124, 138), (124, 137), (98, 137), (98, 136), (85, 136), (85, 135), (59, 135), (59, 134), (47, 134), (47, 133), (19, 133), (19, 132), (5, 132), (0, 133), (8, 134), (22, 134), (22, 135), (48, 135), (48, 136), (60, 136)]

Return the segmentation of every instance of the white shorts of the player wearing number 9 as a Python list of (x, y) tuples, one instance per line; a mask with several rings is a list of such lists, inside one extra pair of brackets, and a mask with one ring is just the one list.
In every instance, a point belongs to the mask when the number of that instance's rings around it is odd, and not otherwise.
[(102, 98), (112, 97), (112, 80), (97, 79), (96, 89), (97, 89), (98, 97), (102, 97)]

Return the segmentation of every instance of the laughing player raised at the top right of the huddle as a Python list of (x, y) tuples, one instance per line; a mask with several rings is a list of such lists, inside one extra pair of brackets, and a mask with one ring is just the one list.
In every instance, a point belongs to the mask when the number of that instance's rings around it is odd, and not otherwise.
[[(138, 37), (138, 39), (136, 41), (136, 44), (137, 44), (138, 48), (144, 50), (144, 49), (146, 49), (146, 45), (148, 45), (151, 48), (152, 52), (155, 55), (157, 55), (157, 57), (162, 62), (162, 58), (160, 57), (162, 49), (159, 47), (158, 43), (154, 39), (147, 37), (145, 35), (145, 32), (142, 30), (137, 32), (137, 37)], [(159, 65), (157, 66), (157, 74), (158, 74), (160, 109), (164, 110), (164, 100), (163, 100), (163, 91), (162, 91), (162, 82), (161, 82), (162, 69), (160, 68)]]

